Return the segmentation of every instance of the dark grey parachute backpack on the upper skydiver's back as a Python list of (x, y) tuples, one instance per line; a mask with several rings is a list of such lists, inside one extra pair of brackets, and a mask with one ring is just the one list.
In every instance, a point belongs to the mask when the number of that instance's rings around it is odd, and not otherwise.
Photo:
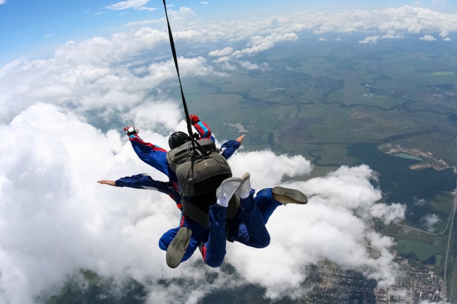
[(223, 180), (232, 177), (227, 160), (211, 140), (190, 141), (166, 153), (169, 167), (176, 173), (183, 196), (215, 192)]

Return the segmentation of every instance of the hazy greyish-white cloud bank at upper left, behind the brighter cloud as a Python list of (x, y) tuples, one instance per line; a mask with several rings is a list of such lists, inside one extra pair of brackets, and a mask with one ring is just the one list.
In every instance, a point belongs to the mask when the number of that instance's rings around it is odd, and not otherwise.
[[(146, 101), (152, 88), (160, 89), (159, 85), (170, 79), (175, 81), (176, 70), (169, 56), (166, 61), (150, 64), (142, 75), (120, 62), (140, 50), (167, 43), (167, 39), (166, 33), (142, 28), (116, 34), (111, 39), (69, 41), (50, 60), (11, 62), (0, 69), (0, 76), (8, 75), (0, 78), (0, 97), (4, 101), (0, 122), (39, 101), (80, 113), (106, 106), (125, 112), (124, 109)], [(179, 57), (178, 61), (182, 77), (225, 75), (214, 71), (203, 57)]]

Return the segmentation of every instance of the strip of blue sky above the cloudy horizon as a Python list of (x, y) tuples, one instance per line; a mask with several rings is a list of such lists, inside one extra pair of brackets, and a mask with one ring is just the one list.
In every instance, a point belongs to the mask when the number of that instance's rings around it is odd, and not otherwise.
[[(191, 8), (200, 20), (232, 21), (253, 17), (316, 10), (373, 10), (402, 5), (427, 7), (452, 13), (456, 4), (443, 0), (374, 1), (167, 1), (170, 9)], [(123, 9), (120, 9), (123, 8)], [(125, 30), (125, 25), (164, 17), (160, 0), (0, 0), (0, 65), (20, 56), (49, 56), (53, 48), (69, 40), (82, 41), (94, 36), (109, 37)], [(160, 23), (162, 25), (162, 23)], [(148, 24), (147, 26), (151, 26)]]

